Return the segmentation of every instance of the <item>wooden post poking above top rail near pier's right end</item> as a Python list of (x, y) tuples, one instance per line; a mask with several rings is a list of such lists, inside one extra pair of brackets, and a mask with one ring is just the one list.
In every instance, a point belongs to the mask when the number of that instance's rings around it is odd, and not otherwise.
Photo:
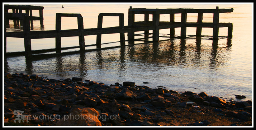
[(213, 13), (213, 39), (219, 38), (219, 7)]

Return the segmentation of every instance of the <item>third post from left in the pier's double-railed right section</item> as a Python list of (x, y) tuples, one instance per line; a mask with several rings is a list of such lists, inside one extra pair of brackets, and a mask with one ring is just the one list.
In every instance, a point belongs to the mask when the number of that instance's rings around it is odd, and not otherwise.
[(159, 41), (159, 19), (160, 15), (159, 12), (156, 10), (153, 12), (153, 41)]

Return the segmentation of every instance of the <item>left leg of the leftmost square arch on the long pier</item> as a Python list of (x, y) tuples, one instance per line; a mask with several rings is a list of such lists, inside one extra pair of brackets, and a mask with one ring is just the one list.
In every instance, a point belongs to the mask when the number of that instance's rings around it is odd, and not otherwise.
[[(56, 32), (60, 32), (61, 31), (61, 15), (59, 13), (56, 13), (56, 23), (55, 23), (55, 29)], [(55, 38), (55, 48), (56, 48), (56, 53), (61, 53), (61, 36), (58, 35)]]

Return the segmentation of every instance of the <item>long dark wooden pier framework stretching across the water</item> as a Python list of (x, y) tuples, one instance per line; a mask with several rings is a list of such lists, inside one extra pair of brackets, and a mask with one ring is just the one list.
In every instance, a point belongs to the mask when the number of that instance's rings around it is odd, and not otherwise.
[[(128, 26), (124, 26), (124, 14), (120, 13), (100, 13), (98, 16), (98, 27), (84, 29), (83, 18), (81, 14), (56, 14), (56, 30), (49, 31), (30, 31), (29, 15), (19, 14), (23, 19), (22, 32), (6, 32), (5, 27), (5, 54), (6, 54), (6, 37), (24, 38), (25, 56), (32, 56), (31, 39), (56, 38), (56, 53), (61, 53), (62, 37), (79, 37), (80, 51), (85, 50), (85, 39), (87, 35), (97, 35), (96, 47), (101, 48), (102, 34), (120, 34), (120, 45), (125, 46), (124, 33), (128, 33), (128, 40), (134, 41), (134, 32), (153, 30), (153, 41), (159, 41), (159, 30), (170, 29), (170, 37), (175, 34), (175, 28), (181, 28), (180, 38), (186, 38), (186, 28), (195, 27), (196, 36), (201, 36), (202, 28), (213, 28), (213, 39), (218, 39), (219, 28), (228, 27), (228, 37), (232, 37), (232, 23), (219, 23), (219, 13), (232, 12), (233, 9), (144, 9), (130, 7), (128, 11)], [(186, 21), (188, 13), (198, 13), (196, 23)], [(203, 14), (213, 13), (213, 23), (203, 23)], [(134, 21), (135, 14), (144, 14), (144, 21)], [(153, 15), (152, 21), (149, 21), (149, 14)], [(170, 14), (170, 22), (162, 22), (160, 14)], [(174, 21), (174, 15), (181, 14), (181, 22)], [(103, 16), (119, 16), (119, 26), (102, 28)], [(61, 30), (61, 17), (77, 17), (78, 29)]]

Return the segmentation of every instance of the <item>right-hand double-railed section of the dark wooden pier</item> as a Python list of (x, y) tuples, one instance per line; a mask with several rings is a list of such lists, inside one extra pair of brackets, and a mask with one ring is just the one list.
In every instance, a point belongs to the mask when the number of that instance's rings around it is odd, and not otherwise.
[[(174, 35), (174, 28), (181, 28), (180, 38), (186, 38), (186, 27), (195, 27), (196, 36), (201, 36), (202, 28), (213, 28), (213, 39), (218, 39), (219, 28), (228, 27), (228, 36), (232, 37), (232, 23), (219, 23), (219, 13), (233, 12), (233, 9), (145, 9), (132, 8), (128, 12), (128, 26), (148, 26), (147, 30), (153, 30), (153, 41), (159, 40), (159, 30), (170, 28), (170, 34)], [(197, 13), (198, 20), (196, 23), (187, 22), (188, 13)], [(213, 23), (203, 23), (203, 14), (212, 13)], [(144, 21), (135, 22), (135, 14), (144, 14)], [(149, 21), (149, 14), (152, 14), (153, 19)], [(161, 14), (170, 14), (170, 22), (160, 22)], [(175, 22), (175, 14), (181, 14), (181, 22)], [(146, 31), (145, 33), (148, 33)], [(128, 39), (134, 40), (134, 32), (128, 33)]]

